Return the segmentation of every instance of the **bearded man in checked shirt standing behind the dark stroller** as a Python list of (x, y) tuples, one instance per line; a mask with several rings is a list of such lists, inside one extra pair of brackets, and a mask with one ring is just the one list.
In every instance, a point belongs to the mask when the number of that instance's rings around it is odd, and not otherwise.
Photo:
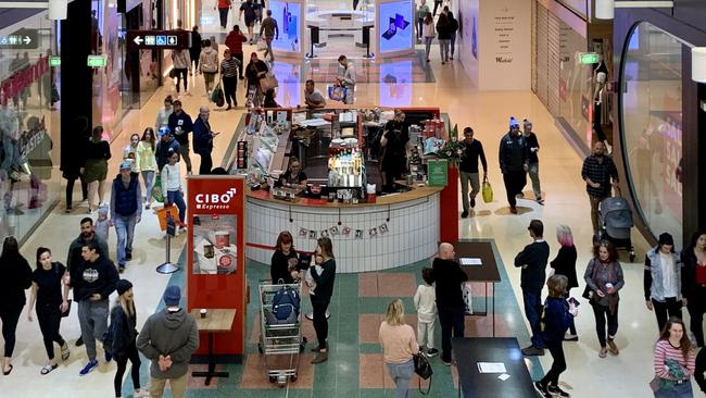
[(601, 236), (598, 224), (598, 204), (610, 197), (610, 188), (618, 187), (618, 169), (613, 159), (605, 154), (605, 144), (597, 141), (593, 145), (593, 154), (583, 160), (581, 178), (585, 182), (585, 190), (591, 201), (591, 223), (595, 237)]

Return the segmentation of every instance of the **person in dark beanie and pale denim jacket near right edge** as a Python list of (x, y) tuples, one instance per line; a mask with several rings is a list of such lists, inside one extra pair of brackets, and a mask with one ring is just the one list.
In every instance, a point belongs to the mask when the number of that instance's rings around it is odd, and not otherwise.
[(659, 242), (645, 254), (645, 304), (655, 311), (661, 331), (667, 320), (681, 319), (681, 259), (675, 252), (675, 239), (664, 233)]

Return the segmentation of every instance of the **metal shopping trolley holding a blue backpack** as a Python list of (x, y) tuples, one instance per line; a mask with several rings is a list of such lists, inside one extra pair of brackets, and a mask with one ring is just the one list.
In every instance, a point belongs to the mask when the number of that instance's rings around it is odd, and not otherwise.
[[(274, 316), (273, 301), (282, 289), (290, 289), (300, 298), (300, 308), (290, 323), (279, 323)], [(301, 333), (301, 293), (299, 284), (272, 285), (270, 281), (260, 281), (260, 343), (257, 349), (265, 356), (267, 376), (270, 383), (280, 387), (287, 381), (297, 381), (300, 353), (304, 351), (306, 339)]]

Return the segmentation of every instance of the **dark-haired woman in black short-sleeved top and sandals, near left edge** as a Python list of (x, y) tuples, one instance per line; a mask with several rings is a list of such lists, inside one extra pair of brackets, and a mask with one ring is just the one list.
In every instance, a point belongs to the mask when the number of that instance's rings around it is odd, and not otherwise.
[(62, 289), (62, 283), (68, 276), (66, 266), (59, 261), (51, 261), (51, 250), (46, 247), (37, 249), (37, 269), (31, 273), (31, 295), (27, 320), (33, 322), (31, 309), (37, 302), (37, 321), (45, 340), (49, 362), (41, 368), (41, 374), (47, 374), (59, 366), (54, 359), (54, 343), (61, 347), (61, 359), (68, 359), (68, 345), (61, 334), (61, 314), (68, 310), (67, 289)]

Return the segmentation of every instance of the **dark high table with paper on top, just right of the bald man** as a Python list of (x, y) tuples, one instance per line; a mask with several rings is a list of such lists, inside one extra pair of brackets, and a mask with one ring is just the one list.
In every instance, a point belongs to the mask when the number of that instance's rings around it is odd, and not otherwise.
[(482, 282), (486, 286), (486, 307), (482, 312), (474, 312), (476, 315), (488, 315), (488, 284), (492, 284), (492, 323), (493, 323), (493, 337), (495, 337), (495, 283), (501, 282), (500, 271), (497, 270), (497, 261), (495, 261), (495, 253), (493, 246), (490, 241), (457, 241), (454, 245), (456, 257), (462, 258), (476, 258), (480, 259), (481, 265), (461, 265), (468, 276), (468, 282)]

